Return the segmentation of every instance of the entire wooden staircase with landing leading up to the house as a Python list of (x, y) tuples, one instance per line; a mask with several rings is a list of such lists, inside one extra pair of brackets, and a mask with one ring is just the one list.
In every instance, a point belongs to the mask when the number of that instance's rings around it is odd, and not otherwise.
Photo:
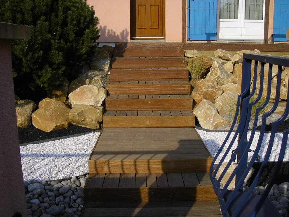
[(183, 50), (122, 46), (114, 50), (82, 216), (221, 217)]

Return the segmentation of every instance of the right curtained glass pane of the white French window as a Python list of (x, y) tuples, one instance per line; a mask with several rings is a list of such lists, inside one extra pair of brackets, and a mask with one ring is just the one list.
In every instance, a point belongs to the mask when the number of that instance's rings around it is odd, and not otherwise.
[(263, 0), (245, 1), (245, 20), (263, 20)]

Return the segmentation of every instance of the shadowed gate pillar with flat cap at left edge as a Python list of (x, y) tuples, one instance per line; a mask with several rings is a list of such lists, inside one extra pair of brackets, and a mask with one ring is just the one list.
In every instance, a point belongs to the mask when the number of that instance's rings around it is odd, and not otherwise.
[[(14, 86), (11, 39), (29, 39), (30, 27), (0, 23), (0, 215), (27, 217), (20, 157)], [(9, 182), (7, 182), (9, 180)]]

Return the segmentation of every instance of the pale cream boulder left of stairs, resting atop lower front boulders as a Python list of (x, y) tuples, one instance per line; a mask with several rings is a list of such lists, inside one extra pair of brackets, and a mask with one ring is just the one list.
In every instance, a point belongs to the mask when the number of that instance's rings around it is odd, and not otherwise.
[(74, 104), (83, 104), (99, 107), (102, 105), (106, 97), (106, 89), (98, 84), (84, 85), (68, 95), (69, 102)]

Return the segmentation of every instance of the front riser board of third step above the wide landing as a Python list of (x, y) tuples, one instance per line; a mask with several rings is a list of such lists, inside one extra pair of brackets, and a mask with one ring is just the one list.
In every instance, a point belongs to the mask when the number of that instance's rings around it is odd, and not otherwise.
[(110, 95), (190, 94), (189, 83), (176, 84), (110, 84)]

